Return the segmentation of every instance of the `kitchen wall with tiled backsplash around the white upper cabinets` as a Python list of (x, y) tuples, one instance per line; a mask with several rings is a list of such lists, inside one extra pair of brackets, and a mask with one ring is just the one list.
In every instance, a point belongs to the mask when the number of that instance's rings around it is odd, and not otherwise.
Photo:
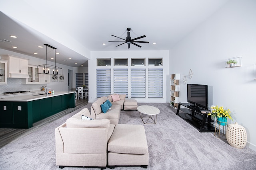
[[(23, 55), (20, 53), (15, 53), (12, 51), (0, 49), (0, 54), (8, 54), (8, 55), (14, 55), (17, 57), (22, 57), (28, 59), (28, 64), (31, 65), (40, 65), (40, 64), (45, 64), (46, 61), (43, 59), (38, 59), (35, 57), (31, 57), (28, 55)], [(52, 64), (54, 65), (54, 62), (47, 61), (47, 64)], [(21, 78), (15, 78), (15, 80), (12, 80), (14, 78), (7, 78), (7, 83), (8, 85), (0, 85), (0, 93), (3, 92), (10, 92), (10, 91), (22, 91), (22, 90), (40, 90), (40, 87), (43, 85), (46, 85), (47, 88), (54, 90), (54, 91), (68, 91), (68, 70), (72, 70), (72, 91), (75, 91), (76, 89), (76, 73), (84, 73), (88, 72), (88, 67), (83, 67), (83, 68), (78, 68), (78, 67), (70, 67), (62, 64), (56, 64), (56, 66), (62, 68), (62, 74), (64, 75), (64, 82), (50, 82), (50, 84), (21, 84)], [(19, 79), (19, 80), (18, 80)], [(8, 81), (9, 80), (9, 81)], [(14, 83), (15, 84), (10, 84)], [(18, 84), (18, 85), (17, 85)]]

